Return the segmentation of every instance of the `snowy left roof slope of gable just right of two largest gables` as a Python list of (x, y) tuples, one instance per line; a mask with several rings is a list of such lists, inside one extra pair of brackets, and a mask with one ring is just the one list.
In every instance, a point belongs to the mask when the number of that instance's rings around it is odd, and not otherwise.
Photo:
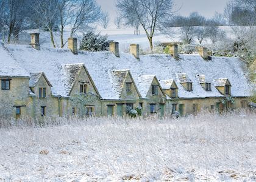
[(155, 75), (141, 75), (139, 76), (138, 90), (142, 98), (146, 98), (148, 95), (151, 84), (155, 78)]

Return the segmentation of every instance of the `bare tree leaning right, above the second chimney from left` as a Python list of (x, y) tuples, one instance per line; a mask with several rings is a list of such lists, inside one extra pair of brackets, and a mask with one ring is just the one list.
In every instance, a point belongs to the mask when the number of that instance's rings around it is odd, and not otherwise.
[(101, 7), (97, 4), (96, 0), (79, 0), (73, 12), (74, 15), (71, 18), (71, 37), (77, 30), (88, 27), (90, 24), (98, 21), (102, 15)]

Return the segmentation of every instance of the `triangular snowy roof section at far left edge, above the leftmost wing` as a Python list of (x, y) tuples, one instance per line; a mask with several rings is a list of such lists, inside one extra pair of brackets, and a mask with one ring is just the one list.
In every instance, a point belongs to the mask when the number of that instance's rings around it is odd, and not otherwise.
[(29, 73), (21, 67), (0, 41), (0, 76), (29, 77)]

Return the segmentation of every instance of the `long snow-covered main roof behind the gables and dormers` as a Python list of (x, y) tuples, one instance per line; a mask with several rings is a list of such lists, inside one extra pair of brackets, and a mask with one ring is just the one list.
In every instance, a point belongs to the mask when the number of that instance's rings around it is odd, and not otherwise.
[[(243, 70), (243, 62), (238, 58), (216, 57), (205, 61), (200, 55), (179, 55), (176, 60), (170, 55), (141, 55), (140, 61), (129, 53), (119, 53), (117, 58), (110, 52), (84, 52), (78, 55), (68, 49), (45, 49), (40, 51), (29, 45), (7, 45), (9, 51), (27, 72), (44, 72), (52, 84), (52, 94), (67, 96), (63, 92), (65, 76), (63, 65), (83, 63), (90, 73), (103, 99), (118, 99), (113, 89), (111, 70), (130, 70), (135, 84), (140, 89), (140, 75), (155, 75), (157, 79), (174, 79), (180, 98), (221, 97), (215, 87), (205, 91), (196, 75), (205, 75), (212, 83), (216, 78), (229, 78), (233, 96), (250, 96), (250, 84)], [(177, 73), (185, 73), (187, 81), (193, 82), (193, 91), (188, 92), (180, 84)], [(189, 78), (189, 79), (188, 79)]]

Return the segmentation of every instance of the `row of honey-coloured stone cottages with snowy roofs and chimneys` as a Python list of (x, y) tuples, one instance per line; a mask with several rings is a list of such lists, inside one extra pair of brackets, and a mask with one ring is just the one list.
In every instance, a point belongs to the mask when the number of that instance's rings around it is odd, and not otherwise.
[(224, 111), (246, 108), (251, 95), (243, 63), (238, 58), (43, 48), (39, 34), (30, 45), (0, 46), (0, 116), (124, 116), (127, 108), (140, 107), (143, 115), (180, 115), (201, 109)]

